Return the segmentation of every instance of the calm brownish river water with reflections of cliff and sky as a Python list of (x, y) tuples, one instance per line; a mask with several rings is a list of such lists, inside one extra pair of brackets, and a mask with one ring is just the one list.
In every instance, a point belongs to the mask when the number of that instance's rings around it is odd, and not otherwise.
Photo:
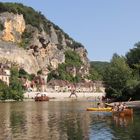
[(0, 103), (0, 140), (139, 140), (140, 108), (133, 117), (88, 112), (88, 101)]

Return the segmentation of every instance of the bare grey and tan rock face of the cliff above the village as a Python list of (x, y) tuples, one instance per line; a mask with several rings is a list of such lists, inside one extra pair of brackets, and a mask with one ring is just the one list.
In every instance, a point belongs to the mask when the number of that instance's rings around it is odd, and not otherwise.
[[(57, 69), (65, 62), (65, 51), (76, 51), (83, 62), (82, 75), (88, 74), (89, 61), (83, 46), (78, 46), (54, 24), (48, 24), (49, 30), (40, 24), (40, 29), (27, 24), (22, 14), (0, 13), (0, 61), (3, 59), (17, 63), (28, 73), (37, 73), (42, 69)], [(80, 69), (80, 70), (81, 70)], [(79, 71), (80, 72), (80, 71)]]

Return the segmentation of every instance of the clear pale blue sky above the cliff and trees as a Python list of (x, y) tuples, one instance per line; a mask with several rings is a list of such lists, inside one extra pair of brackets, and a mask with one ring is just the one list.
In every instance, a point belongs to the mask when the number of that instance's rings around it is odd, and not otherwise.
[(0, 0), (41, 11), (74, 40), (90, 61), (125, 55), (140, 41), (140, 0)]

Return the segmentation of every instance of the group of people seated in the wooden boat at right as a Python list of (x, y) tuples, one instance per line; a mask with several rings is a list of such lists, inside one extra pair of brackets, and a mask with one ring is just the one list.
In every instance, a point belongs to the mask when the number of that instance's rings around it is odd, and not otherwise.
[(124, 111), (127, 108), (126, 104), (123, 102), (114, 103), (113, 111)]

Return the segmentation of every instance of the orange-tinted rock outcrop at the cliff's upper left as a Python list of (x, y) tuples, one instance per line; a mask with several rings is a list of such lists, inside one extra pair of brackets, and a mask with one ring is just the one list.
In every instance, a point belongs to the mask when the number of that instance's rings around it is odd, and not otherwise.
[(13, 13), (1, 13), (0, 21), (4, 25), (4, 30), (0, 38), (3, 41), (20, 42), (21, 35), (25, 30), (25, 21), (23, 15)]

